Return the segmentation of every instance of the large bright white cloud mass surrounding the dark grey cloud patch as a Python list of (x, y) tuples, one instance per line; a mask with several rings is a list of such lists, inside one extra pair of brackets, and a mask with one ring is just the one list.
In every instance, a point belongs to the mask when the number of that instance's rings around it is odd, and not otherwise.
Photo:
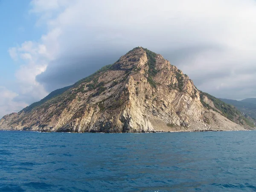
[(36, 76), (48, 73), (52, 61), (143, 46), (175, 62), (215, 96), (256, 96), (254, 0), (32, 0), (30, 6), (47, 33), (9, 49), (23, 61), (16, 73), (20, 93), (45, 96)]

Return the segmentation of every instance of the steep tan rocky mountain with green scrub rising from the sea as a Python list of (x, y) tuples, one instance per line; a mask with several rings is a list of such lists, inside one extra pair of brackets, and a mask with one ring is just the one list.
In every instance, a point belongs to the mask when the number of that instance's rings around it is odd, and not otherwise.
[(227, 119), (188, 76), (142, 47), (55, 93), (4, 116), (0, 129), (125, 133), (250, 128), (243, 119), (240, 125)]

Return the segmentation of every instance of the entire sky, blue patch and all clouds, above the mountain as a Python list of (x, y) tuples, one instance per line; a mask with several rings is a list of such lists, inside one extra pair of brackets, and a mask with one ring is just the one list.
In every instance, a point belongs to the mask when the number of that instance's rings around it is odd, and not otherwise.
[(0, 25), (0, 117), (138, 46), (199, 90), (256, 97), (256, 0), (0, 0)]

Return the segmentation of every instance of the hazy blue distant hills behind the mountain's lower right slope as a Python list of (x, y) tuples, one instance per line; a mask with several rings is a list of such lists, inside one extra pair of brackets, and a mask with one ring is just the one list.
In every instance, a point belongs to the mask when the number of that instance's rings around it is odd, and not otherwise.
[[(253, 100), (256, 101), (256, 98), (248, 98), (241, 101), (232, 100), (232, 99), (220, 99), (221, 101), (233, 105), (238, 108), (241, 112), (246, 115), (249, 115), (251, 118), (256, 120), (256, 103), (253, 103)], [(245, 102), (250, 101), (250, 102)]]

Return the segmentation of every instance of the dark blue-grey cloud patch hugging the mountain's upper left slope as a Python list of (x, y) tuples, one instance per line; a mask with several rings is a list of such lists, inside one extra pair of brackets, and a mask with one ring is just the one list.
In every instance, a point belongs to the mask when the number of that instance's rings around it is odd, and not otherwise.
[[(36, 76), (36, 80), (43, 84), (48, 92), (74, 84), (99, 70), (101, 67), (113, 64), (121, 55), (119, 51), (99, 55), (63, 57), (52, 61), (45, 72)], [(108, 54), (107, 54), (108, 53)]]

